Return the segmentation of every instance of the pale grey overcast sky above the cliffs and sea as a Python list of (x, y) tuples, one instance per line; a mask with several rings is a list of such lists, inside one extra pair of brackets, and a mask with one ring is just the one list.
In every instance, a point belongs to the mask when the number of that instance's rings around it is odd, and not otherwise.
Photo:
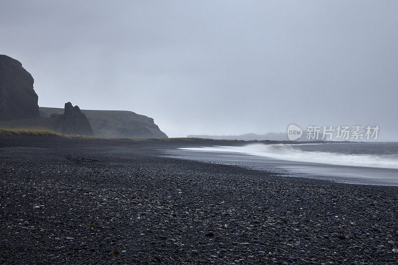
[(170, 137), (379, 125), (398, 140), (398, 1), (0, 2), (40, 106), (131, 110)]

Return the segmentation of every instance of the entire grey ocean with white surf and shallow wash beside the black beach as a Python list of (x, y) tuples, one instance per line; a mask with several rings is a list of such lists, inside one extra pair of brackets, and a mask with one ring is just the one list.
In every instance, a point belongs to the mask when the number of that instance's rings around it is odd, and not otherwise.
[(167, 156), (354, 184), (398, 185), (398, 143), (187, 147)]

